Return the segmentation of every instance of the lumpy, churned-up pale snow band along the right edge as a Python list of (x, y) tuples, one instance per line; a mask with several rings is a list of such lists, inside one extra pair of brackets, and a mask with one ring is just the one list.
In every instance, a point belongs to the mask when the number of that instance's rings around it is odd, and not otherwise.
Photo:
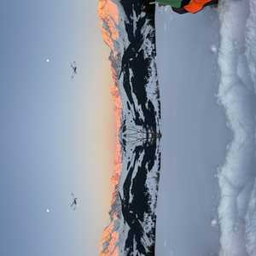
[(233, 139), (219, 168), (220, 256), (256, 255), (256, 1), (219, 3), (218, 102)]

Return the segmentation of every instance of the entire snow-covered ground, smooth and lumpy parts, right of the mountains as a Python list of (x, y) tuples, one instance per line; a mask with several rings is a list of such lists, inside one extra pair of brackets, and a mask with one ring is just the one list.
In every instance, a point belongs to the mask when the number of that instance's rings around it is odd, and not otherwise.
[(156, 254), (256, 255), (256, 1), (157, 9), (163, 165)]

